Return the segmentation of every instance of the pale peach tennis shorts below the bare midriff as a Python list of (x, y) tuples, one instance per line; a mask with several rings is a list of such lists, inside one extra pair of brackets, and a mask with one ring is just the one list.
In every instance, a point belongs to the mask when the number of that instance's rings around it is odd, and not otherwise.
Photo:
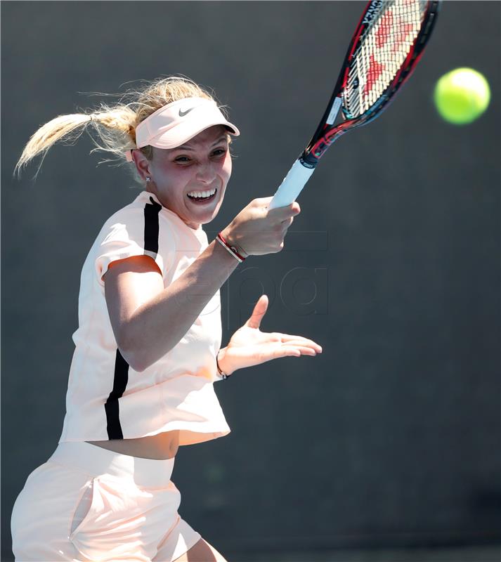
[(15, 500), (15, 560), (173, 562), (200, 540), (178, 514), (173, 469), (174, 459), (60, 443)]

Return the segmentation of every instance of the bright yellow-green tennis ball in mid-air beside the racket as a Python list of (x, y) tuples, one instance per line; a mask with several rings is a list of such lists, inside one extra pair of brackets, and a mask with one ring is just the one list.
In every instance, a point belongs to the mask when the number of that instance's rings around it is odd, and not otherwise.
[(455, 125), (471, 123), (487, 109), (488, 81), (472, 68), (456, 68), (438, 80), (434, 92), (438, 113)]

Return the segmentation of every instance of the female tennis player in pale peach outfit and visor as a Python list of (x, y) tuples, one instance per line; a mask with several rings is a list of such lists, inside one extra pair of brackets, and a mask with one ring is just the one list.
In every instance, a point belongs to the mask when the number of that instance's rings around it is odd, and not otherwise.
[(178, 447), (230, 431), (215, 381), (322, 351), (261, 332), (266, 295), (221, 348), (221, 285), (247, 256), (282, 249), (299, 204), (269, 210), (272, 197), (254, 199), (209, 244), (202, 224), (223, 203), (237, 127), (188, 79), (127, 96), (48, 122), (16, 166), (91, 127), (98, 150), (129, 161), (142, 186), (105, 221), (82, 268), (63, 432), (13, 509), (19, 561), (224, 562), (178, 515)]

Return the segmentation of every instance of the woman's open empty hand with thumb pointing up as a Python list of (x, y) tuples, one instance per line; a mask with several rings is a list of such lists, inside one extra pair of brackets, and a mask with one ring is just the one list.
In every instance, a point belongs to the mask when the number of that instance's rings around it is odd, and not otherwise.
[(278, 332), (261, 332), (259, 325), (267, 308), (268, 296), (263, 294), (254, 305), (249, 320), (231, 336), (228, 346), (219, 350), (218, 362), (223, 373), (231, 374), (237, 369), (280, 357), (322, 353), (322, 348), (311, 339)]

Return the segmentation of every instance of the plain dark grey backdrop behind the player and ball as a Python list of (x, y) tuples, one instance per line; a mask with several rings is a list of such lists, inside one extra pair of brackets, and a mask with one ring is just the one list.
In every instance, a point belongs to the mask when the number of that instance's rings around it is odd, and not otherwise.
[[(242, 135), (210, 239), (273, 195), (364, 5), (2, 2), (2, 560), (14, 499), (62, 429), (86, 253), (136, 194), (126, 169), (96, 166), (86, 137), (53, 148), (36, 182), (36, 164), (14, 181), (23, 145), (103, 99), (79, 92), (174, 73), (213, 87)], [(493, 94), (464, 127), (431, 97), (459, 66)], [(232, 433), (178, 453), (181, 515), (233, 561), (499, 542), (499, 100), (499, 2), (445, 1), (395, 103), (323, 157), (285, 249), (221, 289), (223, 345), (264, 291), (262, 329), (324, 350), (216, 384)]]

